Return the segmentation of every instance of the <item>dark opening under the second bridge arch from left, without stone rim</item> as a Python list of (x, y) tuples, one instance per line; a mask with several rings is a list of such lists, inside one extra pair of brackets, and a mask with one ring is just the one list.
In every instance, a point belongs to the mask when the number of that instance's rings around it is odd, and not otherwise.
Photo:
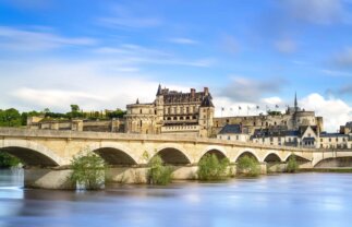
[(137, 164), (129, 154), (118, 148), (102, 147), (95, 150), (94, 153), (111, 166), (132, 166)]

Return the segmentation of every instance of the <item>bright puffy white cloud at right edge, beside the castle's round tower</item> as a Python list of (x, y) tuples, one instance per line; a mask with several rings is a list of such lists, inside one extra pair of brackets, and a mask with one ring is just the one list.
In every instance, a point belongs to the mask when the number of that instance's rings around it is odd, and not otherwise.
[(317, 116), (324, 117), (326, 131), (336, 132), (340, 126), (352, 120), (352, 107), (345, 101), (313, 93), (300, 100), (306, 110), (315, 110)]

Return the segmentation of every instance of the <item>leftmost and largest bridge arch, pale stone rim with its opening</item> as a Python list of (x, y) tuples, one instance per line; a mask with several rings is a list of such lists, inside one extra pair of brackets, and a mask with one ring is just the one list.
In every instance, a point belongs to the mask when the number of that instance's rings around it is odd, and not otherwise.
[(48, 147), (27, 140), (3, 140), (0, 152), (17, 157), (28, 166), (61, 166), (64, 160)]

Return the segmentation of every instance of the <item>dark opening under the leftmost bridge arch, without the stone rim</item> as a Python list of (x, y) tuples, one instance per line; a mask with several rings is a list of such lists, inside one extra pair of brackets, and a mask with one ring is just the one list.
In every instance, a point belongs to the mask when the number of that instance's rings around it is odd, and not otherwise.
[(40, 167), (53, 167), (59, 166), (57, 162), (47, 155), (41, 154), (40, 152), (19, 147), (19, 146), (9, 146), (0, 148), (0, 152), (8, 153), (21, 160), (22, 164), (26, 166), (40, 166)]

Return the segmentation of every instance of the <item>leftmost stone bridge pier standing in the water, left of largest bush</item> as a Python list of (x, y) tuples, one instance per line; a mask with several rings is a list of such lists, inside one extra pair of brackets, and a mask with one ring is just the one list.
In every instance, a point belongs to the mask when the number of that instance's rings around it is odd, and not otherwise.
[(70, 169), (28, 167), (24, 169), (24, 187), (39, 189), (72, 189)]

